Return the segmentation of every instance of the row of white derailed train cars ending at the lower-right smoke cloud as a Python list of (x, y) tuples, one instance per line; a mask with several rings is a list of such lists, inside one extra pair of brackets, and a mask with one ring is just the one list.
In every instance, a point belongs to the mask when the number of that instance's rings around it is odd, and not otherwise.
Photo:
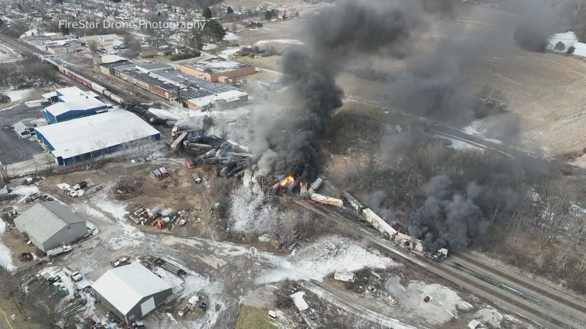
[(437, 252), (426, 252), (423, 246), (423, 242), (420, 239), (415, 239), (409, 235), (403, 234), (389, 225), (386, 221), (375, 214), (370, 208), (364, 207), (362, 203), (356, 200), (352, 194), (346, 191), (342, 192), (342, 200), (345, 200), (352, 208), (354, 208), (359, 214), (359, 218), (368, 222), (374, 228), (376, 228), (385, 238), (390, 239), (395, 244), (410, 249), (415, 253), (424, 255), (428, 258), (432, 258), (438, 261), (443, 261), (448, 256), (448, 249), (441, 248)]

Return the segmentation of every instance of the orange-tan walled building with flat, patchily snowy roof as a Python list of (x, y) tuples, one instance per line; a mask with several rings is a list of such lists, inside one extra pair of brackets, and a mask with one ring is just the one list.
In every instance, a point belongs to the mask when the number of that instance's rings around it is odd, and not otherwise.
[(224, 59), (223, 57), (203, 57), (177, 64), (179, 71), (200, 77), (207, 81), (227, 83), (230, 79), (255, 73), (255, 67)]

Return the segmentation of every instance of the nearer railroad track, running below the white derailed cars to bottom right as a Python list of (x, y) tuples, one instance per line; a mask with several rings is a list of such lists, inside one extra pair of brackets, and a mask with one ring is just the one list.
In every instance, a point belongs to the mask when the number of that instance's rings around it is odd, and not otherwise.
[[(459, 282), (462, 282), (467, 286), (473, 287), (475, 289), (480, 290), (483, 293), (486, 293), (486, 294), (489, 294), (490, 296), (493, 296), (495, 299), (505, 301), (505, 303), (512, 305), (514, 307), (517, 307), (518, 309), (523, 310), (526, 313), (531, 314), (532, 316), (540, 318), (541, 320), (545, 320), (548, 323), (553, 324), (558, 328), (582, 329), (581, 327), (575, 327), (573, 325), (568, 325), (567, 323), (564, 323), (564, 322), (558, 320), (557, 318), (553, 318), (553, 317), (549, 316), (548, 314), (545, 314), (539, 310), (536, 310), (531, 306), (527, 306), (526, 304), (523, 304), (520, 301), (512, 299), (511, 297), (505, 296), (505, 294), (502, 294), (502, 293), (496, 291), (495, 289), (492, 289), (491, 287), (488, 287), (488, 286), (483, 285), (479, 282), (476, 282), (475, 280), (472, 280), (469, 277), (466, 277), (460, 273), (455, 272), (452, 269), (447, 268), (447, 266), (442, 265), (442, 263), (440, 263), (440, 262), (435, 262), (435, 261), (432, 261), (431, 259), (427, 259), (427, 258), (423, 258), (423, 257), (417, 257), (417, 256), (414, 256), (413, 253), (406, 251), (403, 248), (397, 248), (394, 244), (391, 244), (390, 241), (387, 241), (386, 239), (379, 237), (378, 232), (373, 232), (371, 229), (367, 229), (365, 227), (362, 227), (362, 225), (360, 225), (359, 223), (353, 222), (353, 221), (349, 220), (348, 218), (345, 218), (342, 215), (336, 213), (335, 211), (329, 210), (327, 207), (325, 207), (325, 205), (308, 203), (308, 201), (303, 201), (303, 200), (288, 200), (288, 201), (284, 201), (284, 203), (289, 205), (289, 207), (293, 207), (295, 209), (299, 209), (299, 205), (301, 205), (302, 207), (307, 208), (318, 215), (322, 215), (323, 217), (326, 217), (329, 220), (336, 222), (337, 224), (346, 225), (347, 227), (350, 227), (350, 228), (354, 229), (355, 231), (359, 231), (359, 232), (363, 233), (372, 242), (381, 246), (384, 249), (387, 249), (387, 250), (394, 252), (394, 253), (399, 253), (399, 254), (403, 255), (404, 258), (408, 259), (411, 262), (414, 262), (417, 265), (422, 266), (422, 263), (424, 263), (425, 265), (427, 265), (431, 268), (434, 268), (438, 272), (443, 273), (445, 276), (447, 276), (446, 279), (449, 279), (450, 277), (453, 279), (456, 279)], [(292, 204), (294, 204), (294, 205), (292, 205)], [(415, 257), (417, 259), (417, 261), (414, 261), (413, 257)], [(462, 259), (464, 259), (464, 258), (462, 258)], [(476, 263), (474, 263), (474, 264), (476, 265)], [(502, 274), (505, 275), (505, 273), (502, 273)], [(458, 283), (458, 282), (456, 282), (456, 283)], [(525, 284), (529, 285), (528, 283), (525, 283)], [(530, 286), (532, 286), (532, 285), (530, 285)], [(534, 287), (534, 288), (539, 289), (537, 287)], [(528, 289), (530, 289), (530, 288), (528, 288)], [(541, 290), (543, 290), (543, 289), (541, 289)], [(567, 301), (567, 302), (571, 303), (570, 301)], [(560, 301), (560, 303), (563, 303), (563, 302)], [(569, 306), (569, 305), (567, 305), (567, 306)], [(576, 306), (578, 306), (578, 305), (576, 305)], [(580, 307), (580, 306), (578, 306), (578, 307)]]

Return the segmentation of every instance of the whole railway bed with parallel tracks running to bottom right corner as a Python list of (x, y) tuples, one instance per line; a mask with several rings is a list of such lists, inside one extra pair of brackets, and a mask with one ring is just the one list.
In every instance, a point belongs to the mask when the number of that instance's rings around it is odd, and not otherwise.
[[(524, 282), (521, 279), (492, 269), (490, 266), (475, 261), (462, 253), (455, 253), (455, 255), (451, 256), (453, 258), (448, 258), (448, 260), (461, 260), (471, 263), (495, 276), (490, 279), (475, 276), (458, 266), (454, 266), (452, 261), (437, 262), (428, 258), (415, 256), (413, 252), (397, 247), (393, 242), (381, 237), (379, 232), (374, 231), (374, 229), (360, 222), (358, 216), (353, 211), (345, 208), (332, 209), (333, 207), (328, 207), (327, 205), (295, 199), (284, 201), (284, 203), (297, 210), (301, 208), (308, 209), (315, 214), (328, 218), (336, 224), (349, 227), (380, 248), (393, 252), (410, 262), (431, 270), (431, 272), (444, 277), (444, 279), (464, 287), (469, 292), (478, 294), (504, 309), (520, 314), (544, 328), (581, 329), (586, 327), (586, 323), (584, 322), (586, 312), (584, 312), (584, 308), (580, 305), (531, 285), (528, 282)], [(479, 263), (481, 265), (478, 265)], [(507, 285), (502, 281), (513, 282), (519, 286), (519, 289)], [(520, 290), (522, 288), (526, 290)], [(556, 303), (558, 305), (561, 304), (563, 307), (558, 307)]]

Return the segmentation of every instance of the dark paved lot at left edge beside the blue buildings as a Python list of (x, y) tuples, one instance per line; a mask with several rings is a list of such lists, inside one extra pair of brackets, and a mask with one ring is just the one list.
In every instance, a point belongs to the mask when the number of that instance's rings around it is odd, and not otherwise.
[(29, 108), (24, 103), (11, 109), (0, 111), (2, 129), (0, 129), (0, 162), (4, 165), (32, 160), (35, 155), (43, 153), (36, 138), (20, 139), (10, 129), (18, 121), (42, 119), (43, 107)]

